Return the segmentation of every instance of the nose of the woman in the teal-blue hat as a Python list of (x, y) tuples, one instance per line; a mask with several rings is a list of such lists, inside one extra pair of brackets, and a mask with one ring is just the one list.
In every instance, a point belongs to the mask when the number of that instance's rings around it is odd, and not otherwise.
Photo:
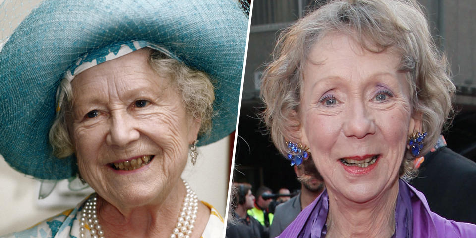
[(124, 111), (111, 112), (109, 119), (110, 129), (106, 136), (106, 143), (110, 146), (123, 147), (139, 139), (137, 123), (131, 115)]

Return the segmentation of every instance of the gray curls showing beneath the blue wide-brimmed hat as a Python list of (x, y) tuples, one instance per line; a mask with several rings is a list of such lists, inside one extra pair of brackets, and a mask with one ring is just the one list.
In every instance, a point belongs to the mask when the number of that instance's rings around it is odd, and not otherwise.
[[(187, 114), (200, 119), (199, 135), (208, 134), (212, 128), (213, 101), (215, 101), (215, 88), (210, 77), (153, 49), (150, 49), (148, 62), (157, 74), (167, 75), (170, 78), (170, 82), (182, 98)], [(63, 79), (58, 91), (62, 98), (59, 100), (61, 110), (58, 110), (49, 137), (53, 155), (64, 158), (74, 153), (66, 121), (66, 113), (73, 101), (73, 90), (69, 80)]]

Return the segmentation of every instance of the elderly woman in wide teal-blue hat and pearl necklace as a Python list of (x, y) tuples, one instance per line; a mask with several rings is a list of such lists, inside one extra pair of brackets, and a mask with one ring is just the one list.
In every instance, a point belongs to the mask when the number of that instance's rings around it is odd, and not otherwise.
[(235, 129), (247, 22), (232, 0), (34, 9), (0, 52), (0, 153), (96, 193), (7, 237), (222, 237), (180, 176), (196, 146)]

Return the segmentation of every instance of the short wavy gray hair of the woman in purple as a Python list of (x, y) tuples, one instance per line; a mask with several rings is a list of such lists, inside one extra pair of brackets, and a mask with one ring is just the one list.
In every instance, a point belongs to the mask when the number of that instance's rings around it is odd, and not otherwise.
[[(261, 85), (262, 119), (278, 150), (286, 155), (285, 135), (300, 127), (296, 115), (305, 60), (327, 33), (354, 37), (372, 52), (392, 47), (400, 54), (401, 69), (407, 72), (411, 87), (412, 115), (421, 114), (422, 129), (428, 133), (421, 152), (428, 152), (453, 116), (455, 86), (446, 57), (435, 46), (422, 7), (415, 0), (333, 0), (281, 33)], [(413, 159), (407, 151), (400, 176), (415, 175)]]

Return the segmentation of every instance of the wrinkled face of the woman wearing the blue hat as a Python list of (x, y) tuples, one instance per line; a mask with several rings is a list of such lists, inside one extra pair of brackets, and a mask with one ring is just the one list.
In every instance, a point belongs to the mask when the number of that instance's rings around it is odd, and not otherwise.
[[(164, 199), (187, 160), (199, 122), (169, 79), (138, 50), (94, 66), (71, 82), (70, 136), (82, 177), (116, 206)], [(155, 199), (155, 200), (154, 200)]]

